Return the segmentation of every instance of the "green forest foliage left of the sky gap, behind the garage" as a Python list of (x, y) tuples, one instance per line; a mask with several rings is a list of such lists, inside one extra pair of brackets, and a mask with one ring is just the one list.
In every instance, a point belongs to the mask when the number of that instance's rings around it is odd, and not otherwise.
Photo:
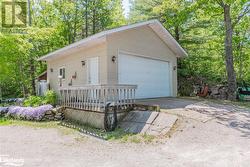
[(6, 33), (0, 27), (0, 96), (3, 97), (35, 94), (36, 77), (46, 70), (46, 64), (37, 61), (39, 57), (126, 24), (121, 0), (30, 0), (30, 3), (29, 26), (18, 29), (21, 33)]

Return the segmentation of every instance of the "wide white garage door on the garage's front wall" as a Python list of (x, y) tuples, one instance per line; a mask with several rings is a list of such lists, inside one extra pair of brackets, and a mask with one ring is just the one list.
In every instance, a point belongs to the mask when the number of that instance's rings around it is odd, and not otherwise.
[(171, 96), (169, 69), (165, 61), (125, 54), (118, 58), (119, 83), (138, 85), (136, 98)]

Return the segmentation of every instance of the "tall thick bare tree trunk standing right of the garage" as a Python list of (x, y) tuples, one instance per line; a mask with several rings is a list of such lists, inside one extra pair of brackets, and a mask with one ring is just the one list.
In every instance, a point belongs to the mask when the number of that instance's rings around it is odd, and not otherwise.
[(236, 75), (234, 70), (233, 60), (233, 27), (230, 15), (230, 5), (224, 5), (224, 24), (225, 24), (225, 63), (227, 70), (227, 82), (228, 82), (228, 99), (235, 100), (236, 98)]

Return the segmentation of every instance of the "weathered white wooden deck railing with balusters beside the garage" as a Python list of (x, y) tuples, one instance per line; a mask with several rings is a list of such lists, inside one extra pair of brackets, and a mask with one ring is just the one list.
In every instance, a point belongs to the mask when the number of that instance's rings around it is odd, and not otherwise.
[(104, 111), (107, 103), (120, 108), (135, 103), (136, 85), (91, 85), (60, 89), (60, 103), (63, 107)]

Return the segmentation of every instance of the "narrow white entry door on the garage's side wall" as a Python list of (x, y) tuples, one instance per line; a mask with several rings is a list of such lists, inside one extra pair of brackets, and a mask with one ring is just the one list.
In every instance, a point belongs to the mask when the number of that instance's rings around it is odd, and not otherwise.
[(99, 84), (99, 58), (93, 57), (88, 59), (88, 84)]

